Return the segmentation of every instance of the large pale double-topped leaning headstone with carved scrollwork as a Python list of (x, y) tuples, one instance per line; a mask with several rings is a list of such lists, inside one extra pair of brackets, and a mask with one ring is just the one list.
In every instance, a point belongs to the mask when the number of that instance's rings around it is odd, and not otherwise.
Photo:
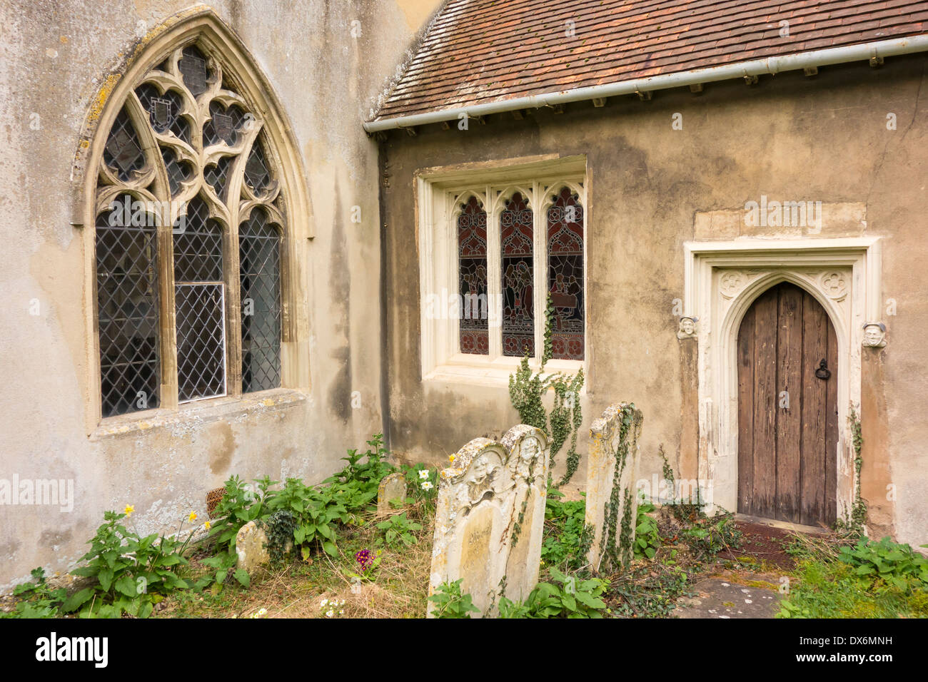
[(547, 486), (548, 439), (535, 427), (458, 450), (440, 475), (429, 594), (461, 579), (461, 594), (486, 615), (499, 598), (527, 598), (538, 582)]

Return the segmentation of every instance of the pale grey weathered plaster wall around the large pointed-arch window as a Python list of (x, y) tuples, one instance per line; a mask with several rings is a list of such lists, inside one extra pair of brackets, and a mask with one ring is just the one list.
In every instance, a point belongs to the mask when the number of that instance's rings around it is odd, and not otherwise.
[[(138, 35), (193, 3), (3, 3), (0, 478), (72, 479), (75, 501), (70, 513), (0, 507), (0, 587), (40, 564), (67, 569), (104, 509), (133, 504), (139, 531), (174, 527), (191, 509), (204, 512), (206, 491), (233, 473), (317, 481), (338, 468), (346, 447), (381, 431), (378, 152), (360, 121), (438, 1), (209, 5), (273, 84), (303, 155), (316, 234), (303, 264), (311, 384), (269, 405), (206, 401), (145, 430), (91, 437), (97, 378), (87, 342), (95, 330), (84, 279), (93, 256), (83, 228), (71, 225), (71, 161), (110, 70)], [(360, 224), (351, 221), (353, 206)], [(30, 315), (33, 299), (39, 315)], [(353, 409), (355, 391), (361, 406)]]

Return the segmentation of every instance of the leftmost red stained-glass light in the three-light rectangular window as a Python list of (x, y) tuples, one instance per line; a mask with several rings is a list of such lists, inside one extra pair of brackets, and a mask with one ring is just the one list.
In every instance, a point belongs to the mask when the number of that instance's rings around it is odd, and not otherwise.
[(470, 197), (458, 215), (458, 290), (461, 353), (490, 353), (486, 296), (486, 211)]

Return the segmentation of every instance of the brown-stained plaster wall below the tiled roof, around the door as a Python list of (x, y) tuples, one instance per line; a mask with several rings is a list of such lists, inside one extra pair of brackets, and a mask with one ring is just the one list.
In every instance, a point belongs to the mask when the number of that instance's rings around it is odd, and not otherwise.
[[(928, 182), (928, 91), (923, 57), (887, 60), (590, 103), (564, 113), (509, 114), (461, 131), (433, 125), (393, 133), (381, 146), (388, 250), (392, 442), (411, 458), (439, 462), (485, 431), (516, 418), (508, 390), (423, 384), (419, 377), (419, 281), (413, 177), (417, 169), (536, 154), (586, 154), (587, 338), (592, 352), (584, 405), (589, 422), (617, 401), (644, 413), (640, 475), (660, 475), (658, 446), (685, 477), (695, 477), (697, 360), (677, 341), (674, 299), (683, 298), (683, 242), (731, 238), (705, 212), (738, 212), (746, 201), (820, 200), (836, 230), (818, 237), (876, 235), (883, 241), (883, 308), (889, 344), (866, 350), (863, 380), (864, 496), (875, 531), (913, 545), (928, 539), (928, 402), (922, 321), (928, 314), (923, 210)], [(887, 130), (887, 114), (897, 129)], [(683, 129), (672, 128), (682, 114)], [(860, 222), (854, 204), (866, 207)], [(846, 213), (846, 214), (845, 214)], [(699, 214), (699, 215), (698, 215)], [(783, 234), (767, 228), (761, 236)], [(737, 236), (737, 235), (736, 235)], [(755, 235), (757, 236), (757, 235)], [(884, 428), (874, 422), (884, 419)], [(585, 464), (578, 478), (583, 479)], [(895, 483), (896, 501), (885, 497)]]

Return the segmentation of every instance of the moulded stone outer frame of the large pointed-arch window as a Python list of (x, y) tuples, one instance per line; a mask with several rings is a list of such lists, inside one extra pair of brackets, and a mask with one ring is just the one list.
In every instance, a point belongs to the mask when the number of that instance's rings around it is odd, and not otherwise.
[[(129, 38), (127, 38), (128, 40)], [(288, 192), (288, 224), (281, 244), (281, 388), (238, 396), (208, 398), (187, 405), (171, 400), (171, 392), (162, 393), (161, 406), (126, 415), (101, 419), (99, 392), (100, 365), (97, 339), (97, 296), (94, 245), (96, 230), (97, 168), (110, 127), (122, 109), (122, 102), (145, 74), (177, 47), (197, 43), (219, 60), (224, 70), (234, 76), (238, 92), (264, 120), (264, 134), (281, 184)], [(292, 126), (271, 84), (255, 65), (248, 50), (222, 19), (206, 6), (178, 12), (154, 27), (143, 41), (145, 49), (132, 53), (108, 78), (103, 79), (92, 102), (102, 103), (89, 109), (71, 168), (73, 206), (71, 225), (84, 228), (84, 253), (88, 254), (84, 275), (84, 310), (87, 328), (85, 431), (91, 440), (117, 434), (148, 431), (159, 425), (197, 423), (212, 415), (235, 418), (249, 413), (254, 405), (299, 405), (310, 388), (309, 328), (304, 300), (305, 272), (299, 264), (308, 259), (307, 240), (314, 237), (312, 207), (305, 185), (306, 177), (299, 145)], [(163, 333), (162, 329), (162, 333)], [(169, 398), (169, 400), (165, 400)]]

